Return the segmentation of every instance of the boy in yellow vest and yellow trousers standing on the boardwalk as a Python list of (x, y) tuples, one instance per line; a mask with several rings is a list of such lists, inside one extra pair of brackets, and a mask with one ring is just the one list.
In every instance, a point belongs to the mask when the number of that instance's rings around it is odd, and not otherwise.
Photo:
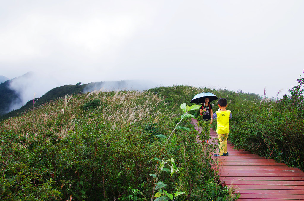
[(227, 138), (230, 131), (229, 120), (232, 118), (230, 110), (226, 110), (227, 100), (226, 98), (220, 98), (219, 111), (213, 114), (213, 118), (217, 119), (216, 133), (219, 138), (219, 154), (215, 156), (228, 156), (227, 152)]

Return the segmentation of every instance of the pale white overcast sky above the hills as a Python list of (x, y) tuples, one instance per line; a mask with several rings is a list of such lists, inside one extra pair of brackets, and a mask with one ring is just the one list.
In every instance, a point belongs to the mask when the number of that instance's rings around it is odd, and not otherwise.
[(38, 97), (137, 79), (275, 97), (303, 74), (303, 9), (302, 0), (2, 0), (0, 75), (38, 73), (29, 92)]

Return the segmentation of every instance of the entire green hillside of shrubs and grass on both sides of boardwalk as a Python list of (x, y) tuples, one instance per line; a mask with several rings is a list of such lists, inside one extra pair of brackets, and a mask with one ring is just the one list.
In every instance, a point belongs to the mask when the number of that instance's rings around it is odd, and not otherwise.
[(211, 169), (210, 125), (198, 115), (198, 133), (190, 123), (199, 108), (190, 100), (202, 92), (225, 97), (236, 148), (303, 170), (304, 79), (297, 81), (280, 100), (173, 86), (50, 101), (0, 123), (0, 199), (232, 200), (238, 195)]

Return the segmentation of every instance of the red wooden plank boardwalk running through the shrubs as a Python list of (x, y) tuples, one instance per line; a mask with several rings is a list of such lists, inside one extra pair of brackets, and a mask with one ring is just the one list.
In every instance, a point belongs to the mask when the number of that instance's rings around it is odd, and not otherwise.
[[(196, 125), (197, 121), (192, 119), (192, 123)], [(210, 136), (217, 139), (213, 130), (210, 130)], [(301, 170), (233, 147), (228, 142), (229, 155), (215, 157), (218, 165), (214, 169), (219, 171), (223, 186), (233, 187), (235, 193), (241, 194), (237, 201), (304, 200), (304, 173)]]

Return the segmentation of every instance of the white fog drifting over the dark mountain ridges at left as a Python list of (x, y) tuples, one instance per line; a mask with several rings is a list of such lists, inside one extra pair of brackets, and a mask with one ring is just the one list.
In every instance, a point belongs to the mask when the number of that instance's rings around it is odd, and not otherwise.
[[(81, 80), (79, 80), (81, 81)], [(11, 90), (9, 93), (13, 94), (11, 104), (7, 105), (5, 108), (1, 108), (2, 113), (7, 113), (12, 110), (19, 109), (21, 106), (26, 104), (29, 100), (34, 97), (41, 97), (43, 94), (47, 93), (49, 90), (61, 86), (64, 84), (64, 80), (59, 80), (58, 77), (48, 77), (47, 75), (42, 75), (34, 72), (28, 72), (22, 76), (16, 77), (8, 81), (9, 83), (5, 85), (8, 87), (7, 90)], [(76, 83), (71, 83), (76, 85)], [(82, 83), (85, 84), (85, 83)], [(2, 86), (2, 85), (1, 85)], [(156, 87), (157, 84), (152, 81), (145, 80), (117, 80), (117, 81), (100, 81), (88, 83), (83, 92), (91, 92), (93, 90), (147, 90), (149, 88)], [(3, 88), (3, 86), (2, 86)], [(3, 94), (0, 94), (1, 98)], [(3, 107), (3, 106), (2, 106)], [(0, 113), (1, 115), (1, 113)]]

